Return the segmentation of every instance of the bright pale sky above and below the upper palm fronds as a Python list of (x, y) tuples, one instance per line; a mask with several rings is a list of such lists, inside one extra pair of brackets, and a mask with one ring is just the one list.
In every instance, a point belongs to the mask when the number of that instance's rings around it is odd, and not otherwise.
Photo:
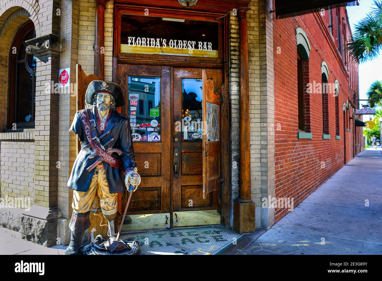
[[(372, 0), (359, 0), (359, 6), (348, 6), (349, 23), (351, 32), (354, 31), (354, 24), (366, 16), (371, 11), (373, 5)], [(359, 99), (367, 99), (366, 92), (369, 89), (372, 82), (376, 80), (382, 80), (382, 55), (371, 61), (366, 61), (359, 64)], [(361, 101), (361, 104), (366, 104), (367, 101)], [(361, 107), (362, 108), (362, 107)]]

